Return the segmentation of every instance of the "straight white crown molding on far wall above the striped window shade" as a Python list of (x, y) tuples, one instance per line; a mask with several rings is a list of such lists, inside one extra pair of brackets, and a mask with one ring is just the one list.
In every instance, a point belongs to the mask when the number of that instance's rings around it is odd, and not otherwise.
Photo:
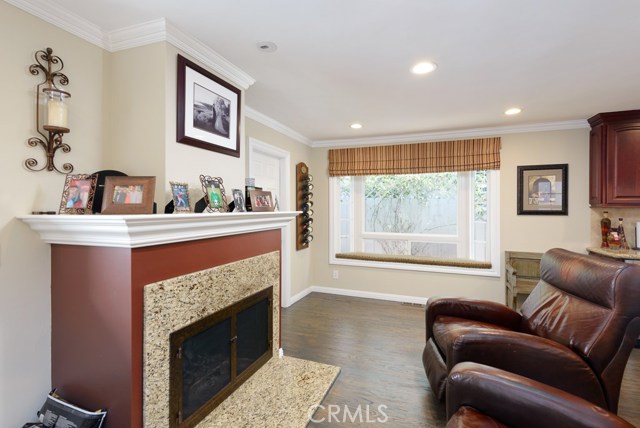
[(472, 128), (458, 131), (440, 131), (417, 134), (389, 135), (380, 137), (345, 138), (336, 140), (317, 140), (311, 144), (313, 148), (321, 147), (354, 147), (379, 146), (383, 144), (415, 143), (418, 141), (444, 141), (465, 138), (478, 138), (506, 134), (523, 134), (527, 132), (563, 131), (568, 129), (588, 129), (586, 120), (569, 120), (564, 122), (544, 122), (528, 125), (495, 126), (488, 128)]

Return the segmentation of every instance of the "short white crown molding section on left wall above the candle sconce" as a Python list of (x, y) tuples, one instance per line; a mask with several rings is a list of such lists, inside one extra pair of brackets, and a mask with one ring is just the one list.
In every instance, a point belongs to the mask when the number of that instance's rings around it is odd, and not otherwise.
[(55, 6), (45, 0), (4, 0), (5, 2), (34, 15), (62, 30), (103, 49), (107, 49), (107, 37), (104, 31), (92, 22)]

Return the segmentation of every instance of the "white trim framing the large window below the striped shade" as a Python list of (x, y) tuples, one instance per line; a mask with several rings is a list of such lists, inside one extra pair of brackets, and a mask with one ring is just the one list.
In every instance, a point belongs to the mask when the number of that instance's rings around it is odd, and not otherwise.
[[(490, 248), (491, 248), (491, 269), (473, 269), (473, 268), (461, 268), (455, 266), (437, 266), (437, 265), (420, 265), (411, 263), (389, 263), (378, 262), (368, 260), (352, 260), (352, 259), (338, 259), (335, 257), (336, 249), (340, 248), (340, 235), (336, 232), (336, 227), (339, 227), (340, 218), (340, 191), (338, 188), (338, 180), (329, 179), (329, 264), (342, 265), (342, 266), (356, 266), (356, 267), (368, 267), (377, 269), (393, 269), (393, 270), (408, 270), (419, 272), (437, 272), (437, 273), (450, 273), (458, 275), (475, 275), (475, 276), (487, 276), (487, 277), (500, 277), (502, 272), (501, 257), (500, 257), (500, 171), (489, 171), (489, 195), (488, 195), (488, 212), (487, 215), (491, 218), (488, 222), (487, 235), (491, 236)], [(471, 195), (472, 197), (473, 195)], [(355, 204), (356, 206), (358, 204)], [(461, 212), (462, 210), (459, 210)], [(357, 214), (353, 214), (354, 216)], [(469, 224), (469, 221), (465, 218), (464, 221), (458, 224), (465, 224), (466, 227), (473, 227)], [(352, 222), (353, 224), (353, 222)], [(493, 226), (493, 227), (492, 227)], [(495, 230), (494, 230), (495, 229)], [(355, 236), (356, 232), (352, 236)], [(470, 241), (469, 245), (473, 245)], [(470, 251), (467, 249), (466, 251)]]

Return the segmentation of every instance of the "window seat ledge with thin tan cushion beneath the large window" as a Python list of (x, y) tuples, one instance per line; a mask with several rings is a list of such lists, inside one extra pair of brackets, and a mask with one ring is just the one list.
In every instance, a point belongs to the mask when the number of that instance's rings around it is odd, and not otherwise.
[(463, 259), (438, 259), (420, 256), (393, 256), (375, 253), (338, 253), (331, 257), (331, 264), (372, 267), (382, 269), (440, 272), (459, 275), (499, 277), (490, 262)]

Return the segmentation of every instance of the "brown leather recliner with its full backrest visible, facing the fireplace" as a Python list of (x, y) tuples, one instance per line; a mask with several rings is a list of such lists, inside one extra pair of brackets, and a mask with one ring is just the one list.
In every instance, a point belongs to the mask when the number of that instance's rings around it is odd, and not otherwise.
[(522, 314), (494, 302), (429, 299), (422, 361), (440, 400), (453, 366), (474, 361), (615, 413), (638, 335), (640, 266), (552, 249)]

